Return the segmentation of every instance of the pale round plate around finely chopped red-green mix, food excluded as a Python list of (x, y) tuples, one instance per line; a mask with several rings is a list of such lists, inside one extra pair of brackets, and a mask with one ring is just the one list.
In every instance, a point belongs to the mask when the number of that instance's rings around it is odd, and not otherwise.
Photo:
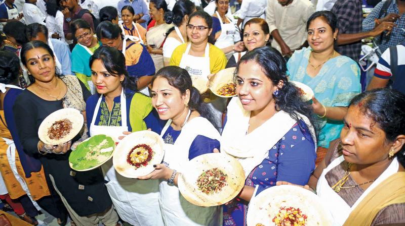
[[(226, 175), (226, 185), (221, 191), (206, 194), (197, 186), (198, 177), (207, 170), (218, 168)], [(242, 165), (223, 153), (203, 154), (193, 158), (179, 175), (178, 187), (183, 197), (198, 206), (217, 206), (232, 200), (245, 184)]]

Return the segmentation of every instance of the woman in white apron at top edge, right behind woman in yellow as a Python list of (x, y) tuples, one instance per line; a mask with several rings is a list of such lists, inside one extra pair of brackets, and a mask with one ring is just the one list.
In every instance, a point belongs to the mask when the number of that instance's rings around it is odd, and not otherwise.
[[(213, 18), (213, 29), (215, 32), (215, 46), (222, 49), (229, 59), (233, 51), (243, 51), (244, 47), (240, 41), (239, 28), (235, 22), (226, 16), (229, 7), (228, 0), (215, 0), (217, 11)], [(235, 43), (237, 41), (237, 43)]]

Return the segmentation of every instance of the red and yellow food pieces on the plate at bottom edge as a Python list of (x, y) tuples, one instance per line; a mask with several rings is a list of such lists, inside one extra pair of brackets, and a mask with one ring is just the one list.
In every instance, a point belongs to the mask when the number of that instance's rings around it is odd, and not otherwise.
[(301, 226), (306, 225), (306, 219), (300, 208), (281, 206), (272, 221), (276, 226)]

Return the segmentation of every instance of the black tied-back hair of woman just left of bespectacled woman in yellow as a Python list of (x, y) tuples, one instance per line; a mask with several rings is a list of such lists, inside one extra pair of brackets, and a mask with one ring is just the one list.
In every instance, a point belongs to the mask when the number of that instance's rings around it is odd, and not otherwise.
[[(179, 0), (173, 7), (173, 10), (165, 13), (165, 21), (167, 24), (173, 23), (179, 27), (183, 23), (185, 15), (191, 15), (195, 9), (195, 5), (190, 0)], [(186, 22), (187, 23), (187, 22)], [(170, 28), (166, 33), (166, 36), (174, 30), (174, 27)]]

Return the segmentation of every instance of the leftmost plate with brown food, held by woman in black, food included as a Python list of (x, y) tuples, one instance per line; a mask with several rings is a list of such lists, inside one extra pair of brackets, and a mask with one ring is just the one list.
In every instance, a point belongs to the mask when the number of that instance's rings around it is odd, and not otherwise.
[(58, 145), (72, 140), (83, 128), (84, 118), (79, 110), (62, 108), (41, 123), (38, 137), (45, 144)]

